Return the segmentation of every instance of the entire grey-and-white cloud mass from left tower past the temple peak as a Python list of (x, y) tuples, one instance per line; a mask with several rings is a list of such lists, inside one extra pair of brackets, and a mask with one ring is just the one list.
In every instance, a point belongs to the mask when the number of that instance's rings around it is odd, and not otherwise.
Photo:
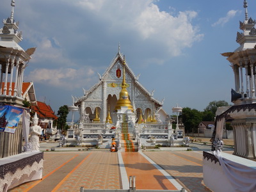
[(203, 38), (198, 26), (192, 24), (197, 12), (174, 15), (159, 10), (154, 2), (24, 0), (17, 3), (15, 9), (20, 15), (15, 17), (22, 19), (20, 29), (24, 40), (30, 47), (36, 47), (26, 70), (29, 81), (63, 88), (74, 88), (74, 84), (83, 87), (92, 81), (95, 71), (104, 72), (109, 66), (112, 59), (109, 56), (117, 52), (118, 42), (126, 48), (129, 63), (146, 66), (164, 64)]

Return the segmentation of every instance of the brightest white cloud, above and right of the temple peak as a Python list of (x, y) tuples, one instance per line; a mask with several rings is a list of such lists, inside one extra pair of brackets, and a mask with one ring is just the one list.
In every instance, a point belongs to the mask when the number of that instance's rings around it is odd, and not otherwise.
[(110, 31), (113, 35), (129, 35), (135, 45), (152, 44), (156, 50), (162, 49), (165, 52), (166, 59), (179, 56), (182, 49), (191, 47), (193, 42), (201, 40), (204, 36), (199, 34), (197, 26), (191, 24), (191, 20), (197, 17), (196, 12), (179, 12), (175, 17), (172, 13), (161, 12), (154, 1), (150, 0), (84, 0), (79, 1), (79, 5), (86, 10), (96, 10), (93, 14), (97, 15), (97, 19), (104, 20), (108, 26), (104, 30), (106, 33)]

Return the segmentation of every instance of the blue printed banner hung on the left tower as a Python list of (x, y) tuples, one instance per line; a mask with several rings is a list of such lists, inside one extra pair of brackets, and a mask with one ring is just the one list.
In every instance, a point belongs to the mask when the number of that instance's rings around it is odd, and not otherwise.
[(0, 132), (14, 133), (23, 109), (14, 106), (0, 106)]

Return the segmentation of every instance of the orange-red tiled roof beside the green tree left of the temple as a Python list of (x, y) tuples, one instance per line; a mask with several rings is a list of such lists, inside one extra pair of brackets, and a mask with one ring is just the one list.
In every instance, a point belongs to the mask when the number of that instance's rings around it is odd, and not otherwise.
[(56, 120), (58, 116), (54, 114), (51, 106), (48, 106), (44, 102), (37, 101), (36, 106), (31, 106), (32, 110), (36, 112), (39, 118), (53, 118)]

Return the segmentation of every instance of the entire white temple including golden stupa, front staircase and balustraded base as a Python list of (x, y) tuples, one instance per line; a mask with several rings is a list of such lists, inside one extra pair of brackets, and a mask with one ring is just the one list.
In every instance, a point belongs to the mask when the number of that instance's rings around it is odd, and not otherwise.
[(68, 129), (67, 145), (97, 145), (110, 148), (116, 139), (118, 150), (138, 151), (141, 146), (182, 145), (183, 129), (173, 130), (163, 109), (163, 101), (154, 99), (138, 81), (120, 53), (99, 82), (78, 99), (79, 127)]

